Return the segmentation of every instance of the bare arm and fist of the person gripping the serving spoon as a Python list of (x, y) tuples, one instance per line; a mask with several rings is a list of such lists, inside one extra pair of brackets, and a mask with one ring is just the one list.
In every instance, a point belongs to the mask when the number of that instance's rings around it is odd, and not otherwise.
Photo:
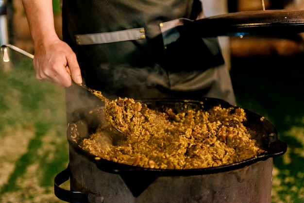
[(36, 78), (70, 86), (82, 77), (71, 48), (59, 39), (54, 28), (52, 0), (22, 0), (34, 40)]

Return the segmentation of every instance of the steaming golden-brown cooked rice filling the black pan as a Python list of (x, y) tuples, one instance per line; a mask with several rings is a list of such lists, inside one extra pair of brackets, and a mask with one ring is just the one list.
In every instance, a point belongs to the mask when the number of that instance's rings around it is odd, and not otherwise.
[(107, 120), (124, 133), (109, 137), (101, 126), (83, 140), (91, 154), (152, 169), (199, 169), (236, 163), (264, 152), (251, 139), (242, 108), (214, 106), (175, 114), (149, 109), (133, 99), (111, 101)]

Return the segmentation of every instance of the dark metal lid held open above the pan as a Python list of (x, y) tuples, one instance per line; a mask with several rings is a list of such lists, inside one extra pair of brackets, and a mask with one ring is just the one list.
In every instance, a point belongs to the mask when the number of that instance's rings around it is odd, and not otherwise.
[(290, 35), (304, 32), (304, 10), (242, 11), (189, 22), (181, 32), (210, 36)]

